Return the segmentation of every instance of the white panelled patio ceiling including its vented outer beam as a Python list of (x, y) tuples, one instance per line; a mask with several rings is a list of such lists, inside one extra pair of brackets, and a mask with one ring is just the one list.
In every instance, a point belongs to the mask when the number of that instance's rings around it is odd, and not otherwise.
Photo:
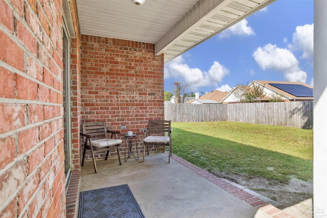
[(165, 63), (275, 0), (77, 0), (81, 34), (155, 44)]

